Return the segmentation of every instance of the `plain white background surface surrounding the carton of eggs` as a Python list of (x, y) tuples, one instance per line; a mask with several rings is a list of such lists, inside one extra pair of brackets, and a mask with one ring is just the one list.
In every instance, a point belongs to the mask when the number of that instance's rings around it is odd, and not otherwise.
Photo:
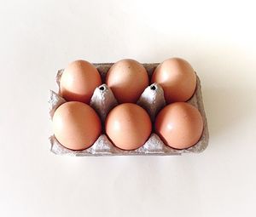
[[(253, 1), (0, 0), (0, 216), (255, 216)], [(182, 157), (49, 152), (49, 89), (77, 59), (190, 62), (206, 151)]]

